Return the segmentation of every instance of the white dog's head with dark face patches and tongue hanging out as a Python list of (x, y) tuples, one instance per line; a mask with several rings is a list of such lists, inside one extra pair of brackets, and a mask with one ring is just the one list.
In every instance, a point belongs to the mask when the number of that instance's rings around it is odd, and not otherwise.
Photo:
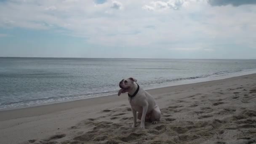
[(121, 93), (126, 93), (129, 91), (130, 88), (133, 87), (134, 82), (137, 82), (136, 79), (130, 77), (128, 79), (123, 79), (119, 82), (119, 87), (121, 88), (118, 91), (118, 96), (120, 96)]

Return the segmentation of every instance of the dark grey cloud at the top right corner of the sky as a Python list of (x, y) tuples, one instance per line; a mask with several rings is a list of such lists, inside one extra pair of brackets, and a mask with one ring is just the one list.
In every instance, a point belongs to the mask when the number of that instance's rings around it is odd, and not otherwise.
[(208, 3), (212, 6), (222, 6), (222, 5), (250, 5), (256, 4), (256, 0), (208, 0)]

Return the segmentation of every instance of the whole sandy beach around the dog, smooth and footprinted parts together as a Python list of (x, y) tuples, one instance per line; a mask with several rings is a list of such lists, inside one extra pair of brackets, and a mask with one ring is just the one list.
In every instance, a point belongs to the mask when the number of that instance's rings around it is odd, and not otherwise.
[(256, 74), (148, 92), (163, 115), (146, 129), (122, 94), (0, 111), (0, 144), (256, 144)]

